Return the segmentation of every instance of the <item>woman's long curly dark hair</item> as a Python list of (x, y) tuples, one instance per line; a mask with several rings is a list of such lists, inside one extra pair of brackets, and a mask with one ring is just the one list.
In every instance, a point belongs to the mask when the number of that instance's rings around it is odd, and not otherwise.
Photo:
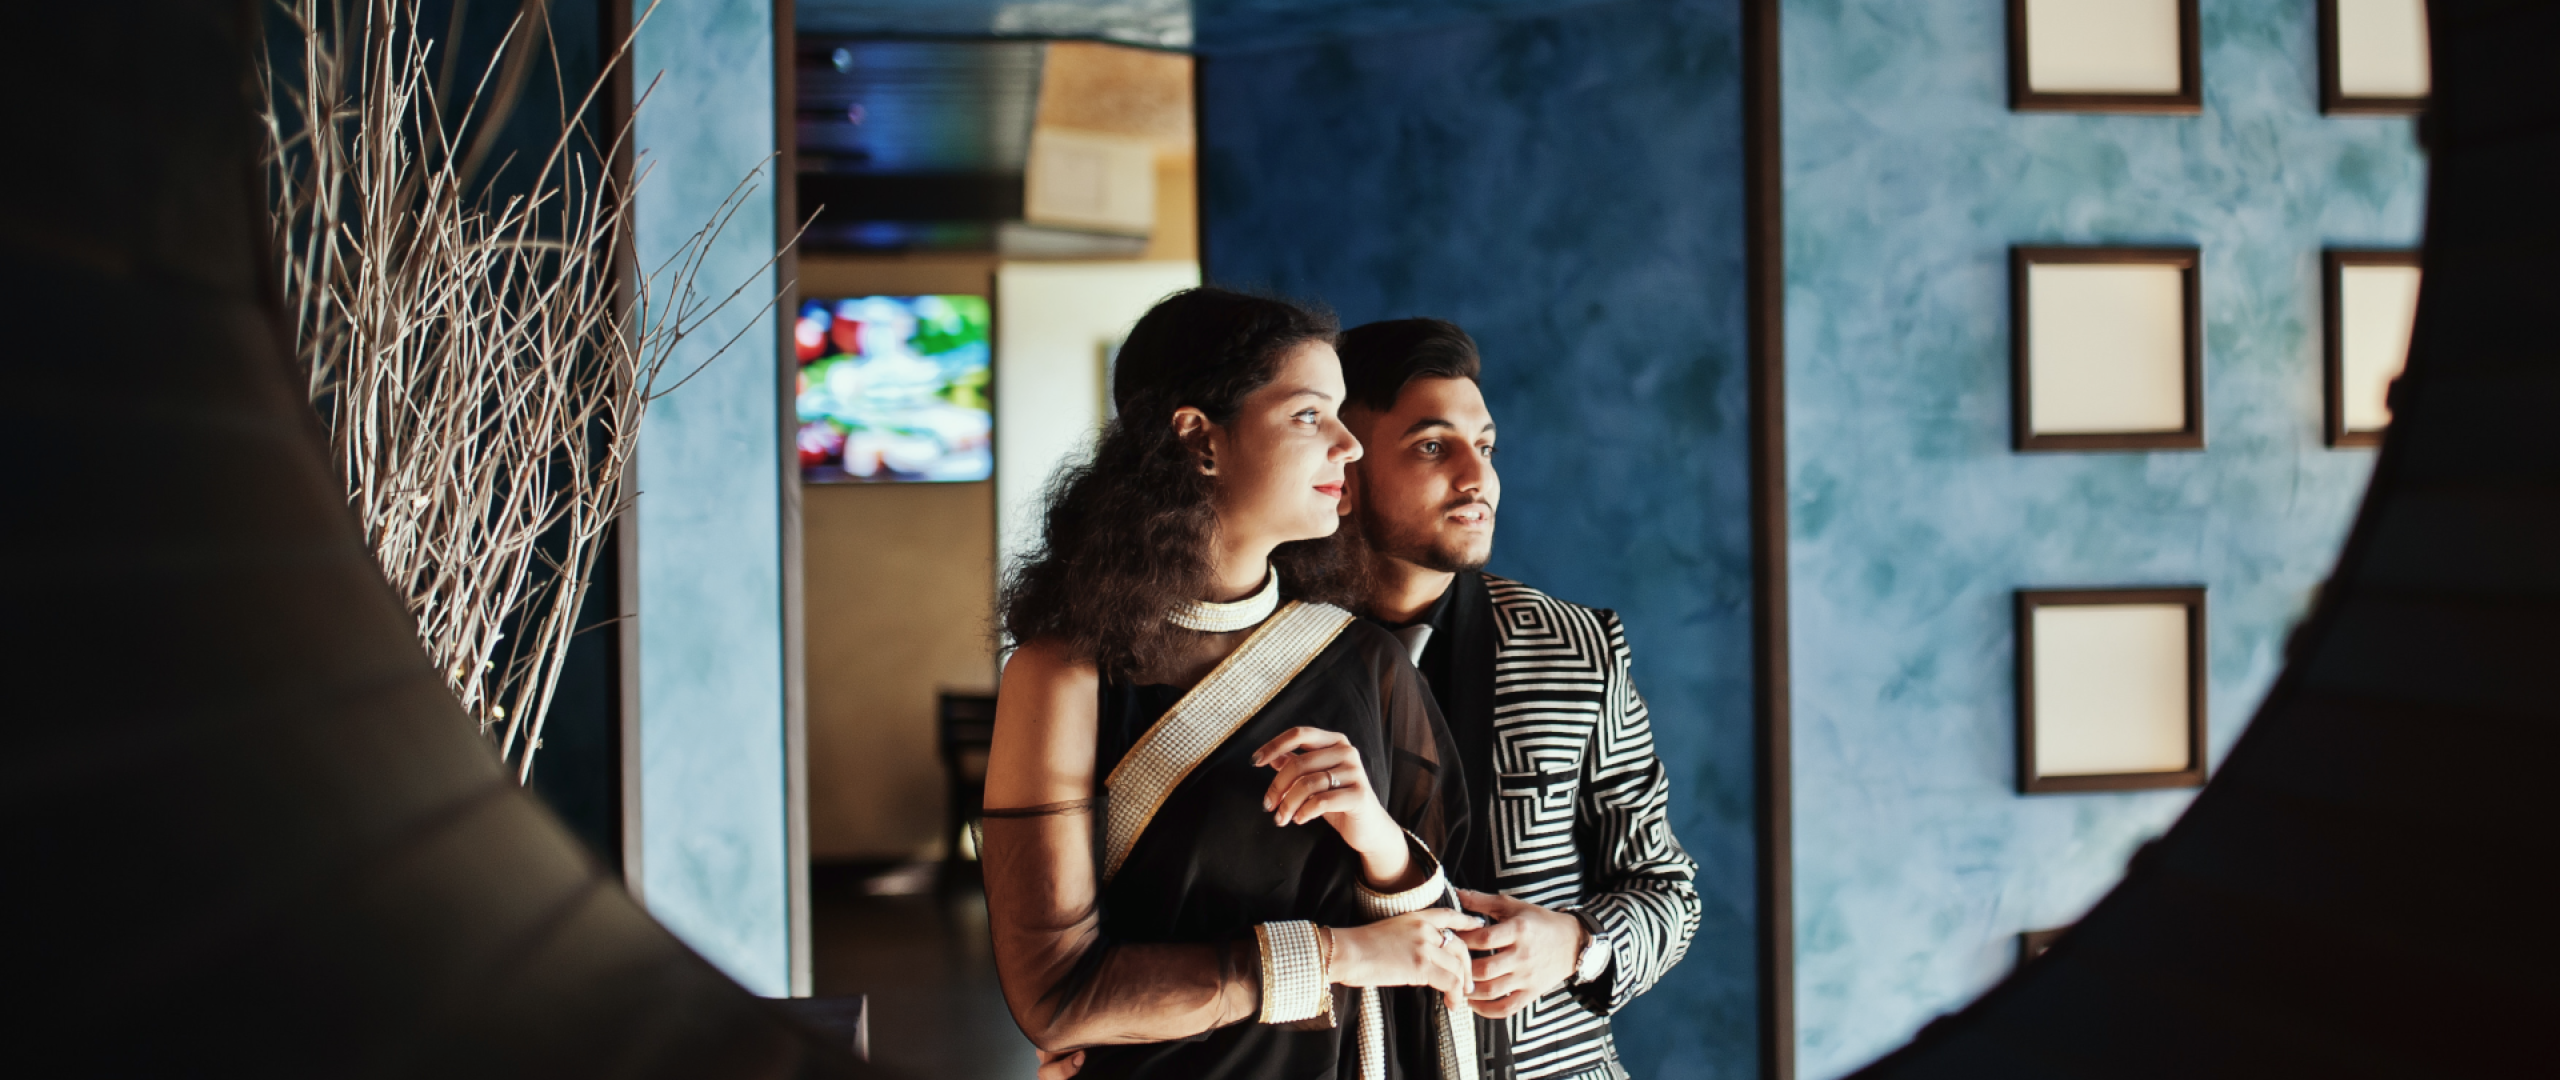
[[(1016, 642), (1052, 637), (1106, 678), (1132, 678), (1157, 655), (1165, 617), (1211, 589), (1208, 543), (1216, 479), (1198, 448), (1172, 433), (1172, 412), (1196, 407), (1219, 425), (1272, 381), (1303, 343), (1334, 343), (1329, 312), (1229, 289), (1185, 289), (1137, 320), (1119, 351), (1111, 402), (1093, 456), (1050, 481), (1039, 550), (1004, 581), (998, 622)], [(1349, 530), (1272, 550), (1280, 594), (1359, 604), (1362, 560)]]

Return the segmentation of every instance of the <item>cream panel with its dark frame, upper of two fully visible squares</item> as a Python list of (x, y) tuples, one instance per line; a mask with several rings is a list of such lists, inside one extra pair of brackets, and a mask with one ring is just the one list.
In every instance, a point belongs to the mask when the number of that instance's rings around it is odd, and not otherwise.
[(2017, 450), (2202, 450), (2196, 248), (2012, 248)]

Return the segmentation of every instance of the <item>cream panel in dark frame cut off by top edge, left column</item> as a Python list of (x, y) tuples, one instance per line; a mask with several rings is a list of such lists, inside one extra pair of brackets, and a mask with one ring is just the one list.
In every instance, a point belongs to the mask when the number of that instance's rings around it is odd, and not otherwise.
[(2202, 113), (2196, 0), (2010, 0), (2010, 107)]

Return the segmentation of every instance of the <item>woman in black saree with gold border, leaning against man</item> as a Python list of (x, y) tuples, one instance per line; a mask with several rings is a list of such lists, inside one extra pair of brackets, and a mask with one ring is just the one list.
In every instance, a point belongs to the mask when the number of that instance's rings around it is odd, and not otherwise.
[(1475, 1075), (1477, 921), (1431, 857), (1464, 827), (1449, 735), (1403, 647), (1324, 604), (1359, 458), (1331, 340), (1224, 289), (1149, 310), (1006, 586), (986, 896), (1042, 1075)]

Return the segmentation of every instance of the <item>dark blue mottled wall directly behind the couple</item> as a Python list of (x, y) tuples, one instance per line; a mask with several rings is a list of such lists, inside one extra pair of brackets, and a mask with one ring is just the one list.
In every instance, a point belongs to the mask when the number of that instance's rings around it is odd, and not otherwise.
[(1201, 69), (1213, 282), (1439, 315), (1503, 425), (1492, 571), (1618, 609), (1705, 865), (1638, 1077), (1754, 1075), (1741, 61), (1733, 3), (1613, 3)]

